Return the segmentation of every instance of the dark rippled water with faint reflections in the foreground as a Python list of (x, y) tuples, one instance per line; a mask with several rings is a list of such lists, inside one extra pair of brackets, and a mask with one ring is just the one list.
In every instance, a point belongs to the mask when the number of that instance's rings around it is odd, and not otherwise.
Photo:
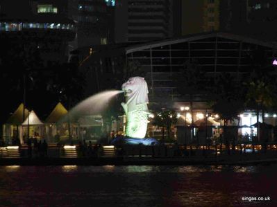
[(276, 176), (277, 165), (1, 166), (0, 206), (277, 206)]

